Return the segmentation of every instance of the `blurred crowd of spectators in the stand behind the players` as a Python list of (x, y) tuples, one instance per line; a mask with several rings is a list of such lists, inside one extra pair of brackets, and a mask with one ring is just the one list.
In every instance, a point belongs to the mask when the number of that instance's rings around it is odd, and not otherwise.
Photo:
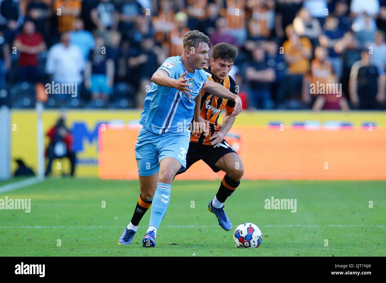
[(386, 0), (0, 0), (0, 105), (142, 109), (195, 29), (238, 48), (244, 109), (385, 109)]

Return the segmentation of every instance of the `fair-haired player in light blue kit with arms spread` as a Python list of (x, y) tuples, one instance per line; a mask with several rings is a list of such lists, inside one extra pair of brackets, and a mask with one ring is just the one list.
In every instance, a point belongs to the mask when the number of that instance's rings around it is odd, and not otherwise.
[[(141, 194), (133, 217), (118, 244), (130, 244), (139, 221), (152, 206), (149, 228), (142, 246), (154, 247), (159, 224), (170, 202), (171, 183), (175, 174), (186, 166), (186, 152), (198, 95), (203, 87), (213, 95), (235, 101), (233, 116), (242, 111), (241, 99), (222, 85), (207, 80), (203, 67), (207, 64), (210, 40), (198, 30), (187, 32), (183, 54), (169, 57), (151, 78), (142, 111), (135, 157), (138, 163)], [(198, 98), (197, 98), (198, 97)], [(188, 124), (183, 125), (189, 121)], [(195, 121), (205, 123), (203, 118)], [(181, 124), (182, 123), (182, 124)], [(181, 127), (182, 126), (182, 127)]]

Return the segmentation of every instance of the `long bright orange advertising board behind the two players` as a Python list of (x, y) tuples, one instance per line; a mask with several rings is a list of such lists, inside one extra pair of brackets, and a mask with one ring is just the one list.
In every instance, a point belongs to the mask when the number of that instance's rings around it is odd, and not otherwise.
[[(134, 144), (138, 127), (99, 129), (98, 174), (102, 179), (137, 179)], [(386, 127), (310, 130), (235, 125), (225, 137), (244, 162), (243, 179), (386, 179)], [(179, 180), (222, 179), (199, 161)]]

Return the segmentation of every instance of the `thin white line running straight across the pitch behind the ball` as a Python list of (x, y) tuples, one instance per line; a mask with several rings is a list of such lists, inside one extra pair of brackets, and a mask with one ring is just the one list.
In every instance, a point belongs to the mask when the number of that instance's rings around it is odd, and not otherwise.
[[(147, 227), (147, 226), (139, 226), (139, 227)], [(216, 227), (216, 225), (167, 225), (165, 228), (209, 228)], [(386, 225), (340, 225), (340, 224), (332, 224), (332, 225), (264, 225), (262, 228), (321, 228), (321, 227), (364, 227), (364, 228), (385, 228)], [(2, 228), (32, 228), (32, 229), (66, 229), (66, 228), (91, 228), (91, 229), (99, 229), (99, 228), (122, 228), (122, 226), (0, 226)]]

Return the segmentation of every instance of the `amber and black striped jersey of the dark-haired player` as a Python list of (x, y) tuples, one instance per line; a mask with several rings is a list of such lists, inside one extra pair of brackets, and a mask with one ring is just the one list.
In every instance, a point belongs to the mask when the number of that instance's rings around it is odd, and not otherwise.
[[(214, 79), (212, 78), (212, 71), (210, 70), (210, 66), (204, 67), (203, 70), (207, 72), (208, 79), (214, 81)], [(229, 75), (225, 77), (225, 79), (221, 82), (221, 85), (223, 85), (230, 92), (239, 95), (238, 92), (236, 92), (236, 89), (237, 89), (236, 83)], [(207, 92), (205, 88), (201, 90), (200, 115), (205, 120), (209, 121), (210, 131), (209, 133), (198, 132), (197, 135), (191, 134), (190, 135), (191, 142), (197, 142), (198, 144), (206, 144), (210, 146), (210, 142), (211, 142), (210, 137), (215, 132), (219, 131), (221, 128), (221, 124), (218, 124), (217, 121), (224, 107), (227, 110), (227, 112), (233, 112), (235, 109), (235, 102), (232, 100), (214, 96), (209, 92)]]

